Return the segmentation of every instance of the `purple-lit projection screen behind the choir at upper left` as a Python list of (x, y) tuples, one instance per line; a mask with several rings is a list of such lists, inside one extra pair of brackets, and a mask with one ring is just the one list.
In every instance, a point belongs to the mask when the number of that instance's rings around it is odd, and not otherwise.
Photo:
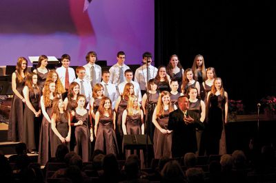
[(41, 54), (70, 54), (71, 65), (84, 65), (91, 50), (108, 65), (120, 50), (126, 64), (140, 64), (144, 52), (154, 54), (154, 1), (93, 0), (86, 12), (83, 3), (1, 0), (1, 65)]

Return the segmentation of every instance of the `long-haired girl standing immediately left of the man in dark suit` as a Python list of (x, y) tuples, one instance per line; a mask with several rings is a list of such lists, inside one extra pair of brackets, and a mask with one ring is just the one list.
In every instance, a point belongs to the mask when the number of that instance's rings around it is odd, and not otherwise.
[(168, 130), (168, 116), (171, 111), (177, 109), (170, 102), (170, 93), (161, 92), (155, 111), (152, 114), (152, 123), (155, 125), (153, 136), (153, 151), (156, 159), (164, 156), (172, 158), (172, 131)]

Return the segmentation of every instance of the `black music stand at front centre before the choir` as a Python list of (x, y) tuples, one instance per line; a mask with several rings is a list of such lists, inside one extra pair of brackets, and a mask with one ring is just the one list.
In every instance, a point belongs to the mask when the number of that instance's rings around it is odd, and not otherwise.
[[(124, 149), (146, 149), (147, 135), (124, 135)], [(148, 146), (152, 146), (150, 138), (148, 137)]]

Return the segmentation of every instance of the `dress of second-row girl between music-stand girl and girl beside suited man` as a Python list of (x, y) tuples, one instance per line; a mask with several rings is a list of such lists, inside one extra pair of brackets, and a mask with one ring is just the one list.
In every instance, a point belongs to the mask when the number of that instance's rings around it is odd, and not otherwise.
[(150, 137), (150, 142), (153, 143), (153, 134), (155, 133), (155, 125), (152, 123), (152, 114), (153, 111), (155, 111), (155, 107), (157, 105), (157, 101), (159, 98), (159, 93), (156, 92), (155, 94), (150, 94), (148, 93), (148, 98), (146, 100), (146, 106), (148, 106), (148, 116), (147, 114), (146, 117), (146, 125), (145, 125), (145, 131), (147, 131), (148, 136)]

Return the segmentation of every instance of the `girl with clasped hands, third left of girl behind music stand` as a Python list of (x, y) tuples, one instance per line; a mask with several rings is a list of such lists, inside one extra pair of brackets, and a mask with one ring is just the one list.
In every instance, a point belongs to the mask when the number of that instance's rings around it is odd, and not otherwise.
[(55, 158), (57, 147), (59, 144), (66, 144), (68, 150), (70, 148), (70, 114), (64, 109), (64, 103), (62, 98), (55, 98), (52, 102), (52, 118), (51, 118), (51, 129), (54, 132), (52, 138), (52, 158)]

